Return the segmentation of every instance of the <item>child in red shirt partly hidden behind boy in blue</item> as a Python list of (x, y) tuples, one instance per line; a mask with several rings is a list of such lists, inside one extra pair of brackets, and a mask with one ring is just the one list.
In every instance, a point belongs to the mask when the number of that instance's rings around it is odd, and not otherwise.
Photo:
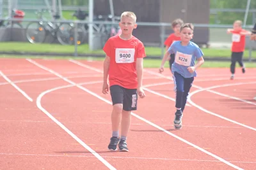
[[(172, 43), (174, 43), (175, 41), (180, 41), (180, 27), (183, 23), (184, 23), (183, 20), (181, 20), (180, 18), (173, 20), (172, 29), (174, 32), (170, 34), (168, 38), (164, 41), (166, 51), (169, 49)], [(172, 64), (174, 62), (174, 59), (175, 59), (175, 54), (172, 53), (169, 58), (169, 66), (171, 71), (172, 71)]]

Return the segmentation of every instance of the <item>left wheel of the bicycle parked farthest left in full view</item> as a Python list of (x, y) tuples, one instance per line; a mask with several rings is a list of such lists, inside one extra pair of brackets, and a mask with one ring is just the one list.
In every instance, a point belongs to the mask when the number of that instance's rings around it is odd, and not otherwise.
[(42, 22), (30, 22), (26, 28), (26, 38), (30, 43), (44, 43), (46, 30)]

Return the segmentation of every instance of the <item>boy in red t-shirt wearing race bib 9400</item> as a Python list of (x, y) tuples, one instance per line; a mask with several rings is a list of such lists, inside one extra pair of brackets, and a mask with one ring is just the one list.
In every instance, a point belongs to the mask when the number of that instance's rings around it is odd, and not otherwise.
[(120, 151), (128, 152), (126, 139), (131, 124), (131, 111), (137, 110), (138, 95), (141, 98), (145, 97), (142, 77), (143, 58), (146, 54), (143, 43), (132, 35), (133, 29), (137, 27), (136, 15), (131, 11), (125, 11), (121, 15), (119, 26), (122, 33), (109, 38), (103, 48), (106, 58), (102, 93), (108, 94), (110, 90), (113, 103), (112, 137), (108, 149), (117, 150), (118, 145)]

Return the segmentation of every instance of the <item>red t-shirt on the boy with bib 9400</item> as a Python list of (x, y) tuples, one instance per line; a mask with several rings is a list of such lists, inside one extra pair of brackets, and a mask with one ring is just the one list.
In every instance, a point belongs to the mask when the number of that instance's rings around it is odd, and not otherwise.
[(110, 57), (109, 86), (137, 89), (136, 59), (146, 57), (143, 43), (134, 36), (124, 40), (116, 35), (108, 39), (103, 50)]

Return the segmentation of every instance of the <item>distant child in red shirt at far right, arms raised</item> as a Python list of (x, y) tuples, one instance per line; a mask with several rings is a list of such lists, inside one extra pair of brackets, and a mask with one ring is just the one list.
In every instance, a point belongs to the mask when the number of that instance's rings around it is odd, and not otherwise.
[(232, 34), (232, 54), (231, 54), (231, 65), (230, 80), (234, 80), (236, 62), (242, 67), (243, 73), (245, 73), (245, 66), (243, 64), (243, 53), (245, 47), (245, 36), (251, 34), (250, 31), (242, 29), (241, 20), (236, 20), (233, 24), (233, 29), (227, 29), (228, 33)]

